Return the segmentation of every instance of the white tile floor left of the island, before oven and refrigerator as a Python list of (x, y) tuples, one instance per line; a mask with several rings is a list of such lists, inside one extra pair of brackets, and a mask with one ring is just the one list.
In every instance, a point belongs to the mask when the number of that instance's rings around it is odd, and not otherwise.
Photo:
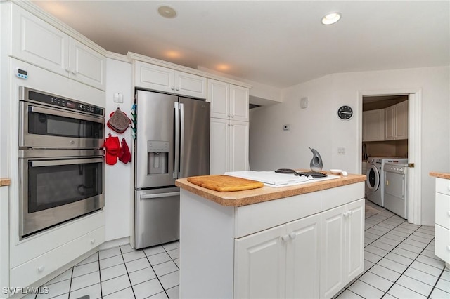
[(179, 241), (137, 251), (129, 245), (98, 251), (44, 286), (49, 293), (35, 298), (179, 298)]

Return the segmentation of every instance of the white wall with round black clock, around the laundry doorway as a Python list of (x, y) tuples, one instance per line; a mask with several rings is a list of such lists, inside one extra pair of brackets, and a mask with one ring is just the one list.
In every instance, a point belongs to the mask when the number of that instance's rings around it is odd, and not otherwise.
[[(309, 168), (314, 147), (323, 168), (359, 171), (358, 135), (361, 91), (416, 89), (422, 93), (422, 223), (435, 217), (435, 185), (430, 171), (450, 171), (449, 67), (427, 67), (378, 72), (331, 74), (283, 90), (283, 103), (250, 110), (250, 168), (256, 171), (281, 167)], [(300, 98), (309, 107), (300, 108)], [(354, 117), (340, 121), (341, 105), (354, 108)], [(290, 131), (283, 131), (290, 124)], [(361, 138), (361, 136), (359, 136)], [(345, 155), (338, 155), (345, 147)]]

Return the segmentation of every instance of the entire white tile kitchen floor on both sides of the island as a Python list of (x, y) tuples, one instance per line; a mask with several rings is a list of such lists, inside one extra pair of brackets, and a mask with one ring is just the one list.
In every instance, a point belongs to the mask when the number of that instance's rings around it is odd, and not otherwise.
[[(434, 227), (366, 201), (364, 272), (335, 298), (450, 299), (450, 270), (435, 256), (434, 238)], [(179, 298), (179, 242), (98, 251), (44, 286), (49, 294), (26, 298)]]

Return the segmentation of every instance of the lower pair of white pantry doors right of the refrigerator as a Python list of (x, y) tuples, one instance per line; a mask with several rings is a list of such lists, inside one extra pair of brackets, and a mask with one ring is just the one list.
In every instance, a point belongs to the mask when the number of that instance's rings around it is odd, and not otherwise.
[(248, 122), (211, 119), (210, 174), (248, 170)]

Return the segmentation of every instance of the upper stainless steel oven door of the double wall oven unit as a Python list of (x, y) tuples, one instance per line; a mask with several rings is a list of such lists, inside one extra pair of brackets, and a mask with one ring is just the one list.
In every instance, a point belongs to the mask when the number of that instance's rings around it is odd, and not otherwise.
[(103, 147), (103, 117), (20, 101), (19, 147), (96, 149)]

